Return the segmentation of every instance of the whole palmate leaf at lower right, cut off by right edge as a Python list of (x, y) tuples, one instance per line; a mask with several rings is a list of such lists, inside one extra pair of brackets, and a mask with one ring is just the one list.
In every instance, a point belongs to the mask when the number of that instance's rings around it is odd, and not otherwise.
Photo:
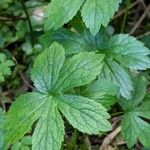
[[(130, 101), (121, 99), (119, 102), (123, 107), (125, 114), (121, 121), (122, 136), (131, 148), (137, 140), (144, 146), (149, 147), (150, 124), (145, 119), (150, 119), (150, 101), (142, 101), (146, 93), (146, 81), (144, 78), (136, 78), (135, 92)], [(140, 105), (140, 103), (142, 104)]]

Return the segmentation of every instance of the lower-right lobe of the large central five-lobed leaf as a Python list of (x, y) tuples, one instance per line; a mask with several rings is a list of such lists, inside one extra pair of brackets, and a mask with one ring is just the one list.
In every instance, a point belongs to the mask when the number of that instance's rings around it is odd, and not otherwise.
[(58, 106), (70, 124), (88, 134), (111, 130), (106, 109), (94, 100), (76, 95), (57, 96)]

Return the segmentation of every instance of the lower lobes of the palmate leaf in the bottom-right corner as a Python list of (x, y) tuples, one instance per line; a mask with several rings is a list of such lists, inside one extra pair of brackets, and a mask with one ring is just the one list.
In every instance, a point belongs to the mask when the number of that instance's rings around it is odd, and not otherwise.
[(137, 139), (139, 139), (144, 146), (150, 146), (150, 124), (134, 114), (134, 111), (124, 115), (121, 127), (122, 135), (127, 141), (129, 148), (137, 142)]

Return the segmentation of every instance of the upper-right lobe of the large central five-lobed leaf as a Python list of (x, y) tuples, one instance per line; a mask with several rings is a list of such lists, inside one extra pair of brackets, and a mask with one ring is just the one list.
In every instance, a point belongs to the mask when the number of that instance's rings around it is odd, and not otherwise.
[(100, 73), (103, 59), (103, 54), (96, 55), (94, 52), (83, 52), (73, 56), (64, 63), (54, 89), (67, 91), (90, 83)]

